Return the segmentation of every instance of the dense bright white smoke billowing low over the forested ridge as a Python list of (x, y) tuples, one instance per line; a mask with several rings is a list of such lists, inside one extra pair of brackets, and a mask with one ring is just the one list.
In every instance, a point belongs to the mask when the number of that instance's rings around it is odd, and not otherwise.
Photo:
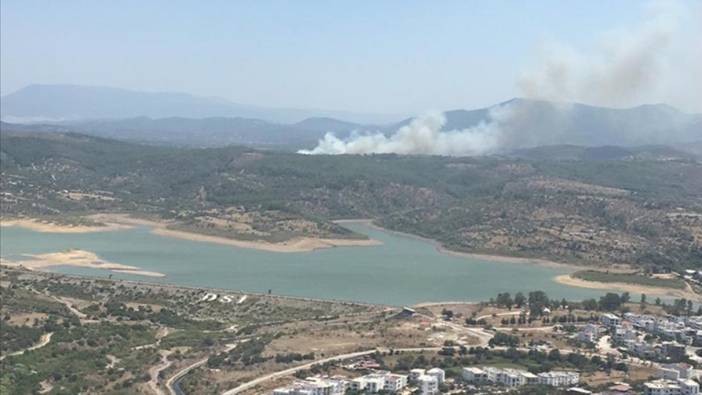
[(354, 133), (340, 139), (327, 133), (312, 150), (298, 151), (301, 154), (401, 154), (401, 155), (446, 155), (472, 156), (493, 152), (499, 146), (501, 136), (500, 119), (508, 117), (506, 108), (496, 107), (490, 112), (490, 120), (463, 129), (442, 131), (446, 117), (441, 113), (429, 113), (413, 119), (393, 134), (386, 136)]

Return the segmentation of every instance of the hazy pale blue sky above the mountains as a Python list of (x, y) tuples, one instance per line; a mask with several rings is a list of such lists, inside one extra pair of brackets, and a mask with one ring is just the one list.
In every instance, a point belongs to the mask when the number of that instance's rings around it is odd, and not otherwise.
[[(601, 101), (602, 95), (582, 93), (582, 88), (593, 79), (597, 81), (592, 84), (602, 88), (607, 81), (631, 75), (617, 67), (613, 68), (619, 74), (608, 74), (606, 63), (617, 61), (612, 53), (626, 51), (607, 43), (621, 41), (640, 49), (637, 35), (650, 30), (647, 24), (661, 3), (2, 0), (1, 4), (3, 95), (32, 83), (72, 83), (184, 91), (277, 107), (418, 113), (481, 107), (525, 92)], [(670, 8), (670, 3), (662, 4)], [(669, 102), (702, 111), (700, 94), (693, 90), (702, 88), (700, 77), (693, 75), (700, 73), (695, 67), (702, 41), (694, 33), (702, 24), (701, 2), (674, 4), (672, 38), (661, 41), (656, 36), (642, 44), (644, 49), (664, 45), (651, 48), (655, 56), (668, 47), (673, 48), (671, 54), (661, 62), (644, 58), (647, 63), (639, 67), (661, 75), (665, 86), (637, 85), (636, 94), (595, 104)], [(696, 44), (700, 45), (695, 48)], [(675, 48), (685, 48), (682, 59), (673, 56)], [(628, 67), (647, 56), (635, 50), (620, 63)], [(601, 51), (601, 57), (590, 55)], [(554, 53), (556, 66), (549, 58)], [(561, 54), (568, 61), (562, 62)], [(561, 70), (572, 66), (568, 62), (573, 59), (588, 65), (582, 59), (591, 58), (599, 59), (588, 66), (598, 70), (593, 75), (583, 67)], [(658, 63), (665, 67), (659, 69)], [(554, 70), (556, 77), (549, 74)], [(525, 73), (531, 78), (526, 84)], [(686, 73), (691, 79), (682, 82), (679, 76)], [(554, 88), (554, 80), (561, 83), (563, 78), (567, 89)], [(612, 87), (602, 89), (609, 92)]]

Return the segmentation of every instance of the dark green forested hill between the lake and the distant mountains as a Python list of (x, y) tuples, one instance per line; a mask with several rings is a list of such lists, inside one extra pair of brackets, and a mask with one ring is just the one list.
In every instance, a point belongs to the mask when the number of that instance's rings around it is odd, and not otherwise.
[(119, 211), (271, 241), (356, 237), (331, 220), (374, 218), (459, 251), (702, 266), (702, 165), (669, 151), (597, 160), (305, 156), (80, 134), (0, 138), (3, 217)]

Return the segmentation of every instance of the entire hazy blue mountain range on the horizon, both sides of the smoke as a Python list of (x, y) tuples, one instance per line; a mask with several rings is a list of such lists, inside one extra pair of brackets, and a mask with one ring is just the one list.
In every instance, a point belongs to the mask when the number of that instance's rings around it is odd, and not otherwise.
[[(25, 119), (38, 116), (74, 119), (44, 122), (29, 127), (29, 130), (75, 131), (122, 140), (188, 146), (239, 144), (285, 150), (309, 149), (316, 146), (327, 132), (340, 138), (346, 138), (352, 132), (390, 135), (412, 120), (407, 118), (390, 124), (352, 122), (348, 118), (327, 116), (324, 112), (295, 118), (292, 113), (285, 115), (285, 111), (298, 110), (261, 109), (179, 93), (76, 86), (35, 85), (2, 98), (3, 117), (12, 114)], [(139, 113), (152, 115), (133, 116)], [(173, 113), (186, 115), (170, 115)], [(233, 113), (246, 115), (233, 116)], [(105, 119), (108, 114), (112, 118)], [(481, 123), (489, 125), (498, 119), (497, 127), (492, 131), (499, 133), (503, 153), (530, 147), (567, 145), (669, 145), (695, 155), (702, 150), (699, 143), (686, 148), (688, 143), (702, 139), (702, 115), (686, 114), (664, 104), (614, 109), (512, 99), (487, 108), (446, 111), (444, 115), (444, 131), (468, 129)], [(3, 125), (3, 129), (7, 128), (27, 130), (19, 125)]]

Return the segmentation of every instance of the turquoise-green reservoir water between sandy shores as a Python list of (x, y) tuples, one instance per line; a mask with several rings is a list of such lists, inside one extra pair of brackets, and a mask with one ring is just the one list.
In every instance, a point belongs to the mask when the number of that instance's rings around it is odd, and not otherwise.
[(40, 233), (17, 227), (0, 232), (0, 254), (92, 251), (103, 259), (166, 274), (164, 278), (56, 267), (52, 271), (91, 276), (267, 292), (391, 305), (480, 301), (499, 292), (543, 290), (551, 298), (579, 300), (602, 290), (553, 281), (567, 273), (530, 264), (489, 262), (442, 254), (432, 243), (384, 232), (360, 223), (345, 225), (380, 240), (370, 247), (336, 247), (276, 253), (158, 236), (148, 228), (84, 234)]

